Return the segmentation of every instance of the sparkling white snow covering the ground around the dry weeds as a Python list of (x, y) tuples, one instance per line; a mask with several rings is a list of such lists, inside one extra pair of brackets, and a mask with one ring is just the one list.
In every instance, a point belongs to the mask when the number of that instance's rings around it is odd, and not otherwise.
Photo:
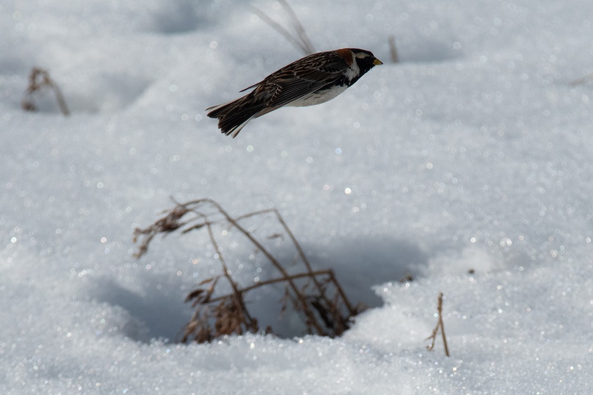
[[(302, 56), (243, 2), (0, 2), (0, 393), (589, 393), (593, 2), (292, 3), (317, 50), (385, 65), (230, 139), (204, 108)], [(70, 117), (21, 110), (33, 66)], [(219, 265), (202, 233), (133, 258), (171, 196), (279, 208), (374, 308), (337, 339), (177, 343)], [(425, 349), (439, 292), (450, 358)]]

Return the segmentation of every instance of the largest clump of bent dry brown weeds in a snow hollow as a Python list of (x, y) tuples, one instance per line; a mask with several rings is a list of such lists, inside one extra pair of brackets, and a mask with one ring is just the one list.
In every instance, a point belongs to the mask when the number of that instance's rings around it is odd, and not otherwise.
[[(148, 246), (154, 236), (166, 235), (171, 232), (189, 233), (194, 230), (205, 229), (209, 240), (216, 251), (216, 258), (221, 265), (221, 272), (200, 282), (195, 290), (189, 293), (186, 301), (191, 301), (196, 308), (189, 323), (184, 327), (183, 342), (210, 342), (224, 335), (241, 335), (246, 332), (260, 332), (257, 317), (251, 314), (246, 303), (246, 294), (257, 288), (271, 284), (285, 284), (285, 293), (279, 303), (281, 310), (298, 313), (307, 328), (307, 333), (322, 336), (339, 336), (351, 323), (351, 317), (362, 311), (362, 306), (353, 306), (342, 290), (331, 269), (314, 271), (302, 251), (294, 234), (291, 232), (280, 213), (275, 208), (254, 211), (240, 217), (233, 218), (221, 205), (211, 199), (200, 199), (176, 205), (164, 212), (164, 216), (145, 229), (136, 229), (134, 241), (141, 243), (136, 253), (139, 258), (148, 251)], [(282, 234), (275, 233), (273, 238), (288, 237), (294, 245), (297, 255), (290, 262), (291, 267), (300, 264), (302, 269), (296, 274), (289, 274), (287, 265), (283, 265), (264, 244), (241, 224), (253, 217), (272, 216), (280, 225)], [(244, 236), (247, 243), (262, 253), (270, 264), (270, 269), (277, 273), (277, 277), (252, 284), (239, 284), (232, 277), (225, 257), (215, 237), (213, 227), (226, 226)], [(248, 261), (246, 259), (246, 261)], [(221, 281), (230, 285), (231, 292), (217, 293), (217, 286)], [(272, 332), (273, 328), (266, 328)]]

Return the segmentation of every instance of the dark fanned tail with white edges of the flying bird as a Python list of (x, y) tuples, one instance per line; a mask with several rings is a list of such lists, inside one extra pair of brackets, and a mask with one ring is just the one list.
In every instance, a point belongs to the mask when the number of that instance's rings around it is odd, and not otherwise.
[(257, 113), (265, 107), (264, 103), (254, 101), (249, 94), (235, 101), (206, 108), (206, 110), (211, 110), (208, 117), (218, 118), (218, 127), (222, 133), (227, 136), (232, 134), (232, 137), (235, 138), (241, 129), (253, 118), (256, 118)]

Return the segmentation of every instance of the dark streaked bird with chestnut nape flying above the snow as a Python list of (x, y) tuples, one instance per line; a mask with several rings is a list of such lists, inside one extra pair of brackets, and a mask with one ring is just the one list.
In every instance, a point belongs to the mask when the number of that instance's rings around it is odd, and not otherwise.
[(314, 53), (273, 72), (244, 97), (206, 108), (208, 116), (218, 118), (222, 133), (237, 134), (253, 118), (285, 105), (304, 107), (326, 102), (341, 94), (374, 66), (382, 65), (371, 52), (343, 48)]

